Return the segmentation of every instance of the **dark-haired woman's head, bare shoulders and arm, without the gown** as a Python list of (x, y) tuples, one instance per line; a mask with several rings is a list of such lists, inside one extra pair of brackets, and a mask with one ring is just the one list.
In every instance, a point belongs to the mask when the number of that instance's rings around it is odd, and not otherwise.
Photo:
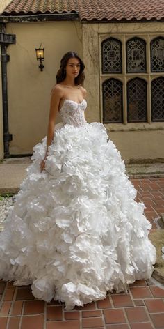
[[(47, 158), (48, 147), (54, 137), (54, 125), (56, 114), (60, 111), (65, 100), (75, 100), (76, 103), (82, 102), (86, 97), (86, 91), (81, 86), (84, 81), (85, 66), (78, 54), (67, 52), (61, 59), (60, 70), (56, 75), (56, 86), (52, 90), (51, 105), (49, 113), (49, 127), (47, 133), (47, 150), (44, 160)], [(42, 160), (41, 171), (45, 163)]]

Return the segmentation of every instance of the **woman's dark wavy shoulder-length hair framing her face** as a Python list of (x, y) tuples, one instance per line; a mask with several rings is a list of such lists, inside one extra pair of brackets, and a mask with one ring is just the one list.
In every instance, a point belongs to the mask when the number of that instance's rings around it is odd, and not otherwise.
[(76, 54), (76, 52), (67, 52), (61, 59), (60, 61), (60, 69), (58, 70), (57, 74), (56, 74), (56, 83), (59, 84), (60, 82), (63, 82), (63, 80), (65, 79), (66, 77), (66, 72), (65, 72), (65, 68), (66, 68), (66, 65), (67, 65), (67, 61), (69, 59), (72, 59), (72, 58), (75, 58), (75, 59), (79, 59), (79, 62), (80, 62), (80, 72), (79, 72), (79, 75), (78, 77), (76, 77), (74, 79), (74, 82), (75, 84), (80, 84), (80, 85), (83, 85), (83, 82), (84, 82), (84, 79), (85, 79), (85, 75), (84, 75), (84, 68), (85, 68), (85, 65), (82, 61), (82, 59), (79, 57), (79, 54)]

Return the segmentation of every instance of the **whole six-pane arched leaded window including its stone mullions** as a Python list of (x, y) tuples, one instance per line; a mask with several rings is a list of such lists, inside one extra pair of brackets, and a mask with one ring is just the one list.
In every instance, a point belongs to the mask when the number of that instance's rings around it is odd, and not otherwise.
[(129, 123), (164, 121), (164, 35), (115, 33), (99, 38), (103, 122), (131, 128)]

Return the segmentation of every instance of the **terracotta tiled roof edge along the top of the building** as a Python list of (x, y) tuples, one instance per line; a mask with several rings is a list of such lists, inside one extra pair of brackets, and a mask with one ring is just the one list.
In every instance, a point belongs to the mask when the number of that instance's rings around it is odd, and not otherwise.
[(13, 0), (2, 15), (79, 13), (79, 20), (161, 20), (164, 0)]

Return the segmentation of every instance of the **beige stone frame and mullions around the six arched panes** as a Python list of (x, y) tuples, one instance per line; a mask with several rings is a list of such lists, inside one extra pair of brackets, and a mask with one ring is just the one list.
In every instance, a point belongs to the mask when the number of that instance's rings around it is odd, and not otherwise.
[[(110, 131), (117, 130), (151, 130), (161, 128), (163, 121), (151, 120), (151, 81), (157, 77), (164, 77), (164, 73), (151, 72), (151, 40), (155, 38), (164, 38), (164, 33), (99, 33), (99, 91), (100, 91), (100, 121), (103, 123), (103, 93), (102, 84), (106, 80), (113, 78), (122, 82), (123, 99), (123, 123), (105, 123)], [(115, 38), (122, 43), (122, 73), (102, 73), (101, 67), (101, 43), (108, 39)], [(126, 42), (132, 38), (140, 38), (146, 43), (146, 72), (129, 73), (126, 70)], [(136, 77), (145, 79), (147, 82), (147, 122), (129, 123), (127, 119), (127, 82)]]

